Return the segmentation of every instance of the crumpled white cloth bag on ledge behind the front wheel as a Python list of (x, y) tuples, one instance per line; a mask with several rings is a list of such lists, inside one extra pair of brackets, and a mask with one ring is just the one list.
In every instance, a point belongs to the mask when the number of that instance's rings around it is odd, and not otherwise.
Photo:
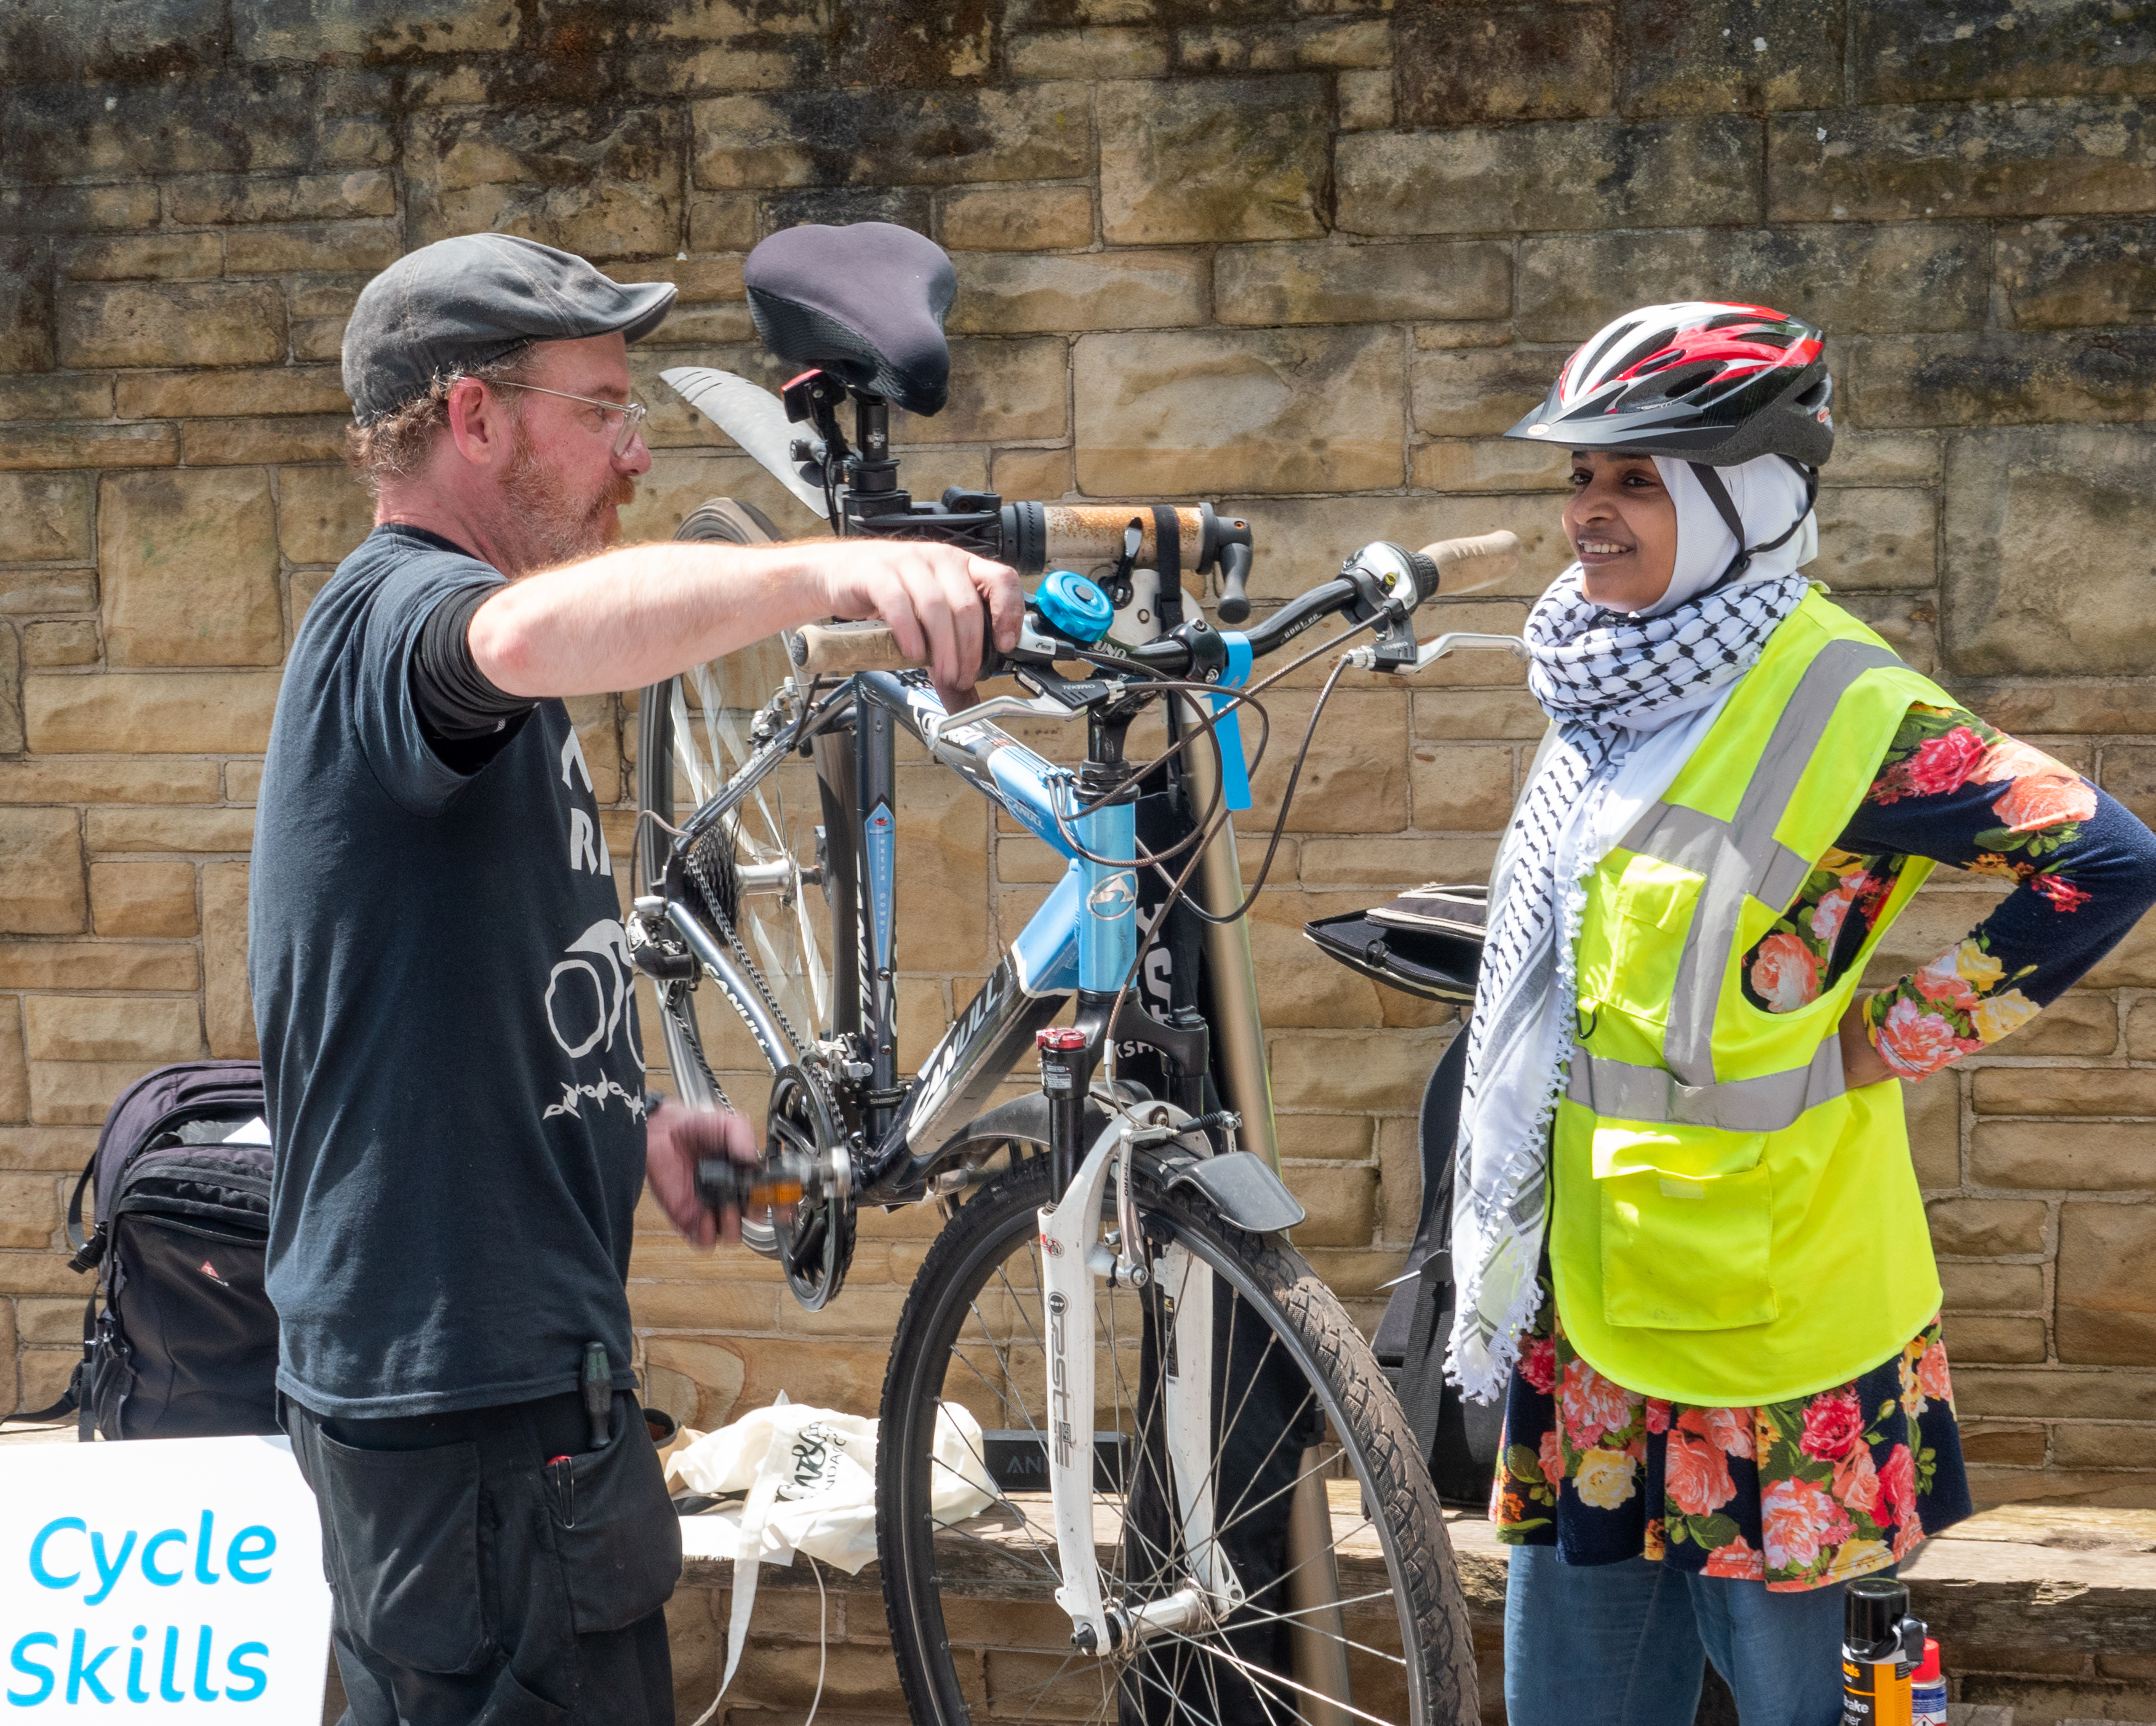
[[(957, 1403), (936, 1409), (934, 1454), (929, 1508), (938, 1521), (964, 1521), (996, 1502), (996, 1485), (983, 1461), (981, 1422)], [(793, 1554), (802, 1551), (858, 1575), (875, 1558), (875, 1422), (789, 1403), (778, 1392), (768, 1409), (752, 1409), (716, 1433), (705, 1433), (671, 1461), (692, 1491), (748, 1493), (740, 1508), (681, 1519), (690, 1554), (733, 1558), (727, 1674), (718, 1683), (718, 1694), (724, 1696), (748, 1640), (759, 1564), (791, 1564)]]

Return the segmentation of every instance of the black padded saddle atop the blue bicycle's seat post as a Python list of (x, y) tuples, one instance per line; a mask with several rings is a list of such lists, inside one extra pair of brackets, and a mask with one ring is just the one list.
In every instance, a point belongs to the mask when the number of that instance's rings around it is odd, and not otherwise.
[(828, 371), (908, 414), (938, 414), (951, 394), (942, 321), (957, 293), (934, 239), (890, 222), (774, 233), (742, 269), (763, 345), (789, 364)]

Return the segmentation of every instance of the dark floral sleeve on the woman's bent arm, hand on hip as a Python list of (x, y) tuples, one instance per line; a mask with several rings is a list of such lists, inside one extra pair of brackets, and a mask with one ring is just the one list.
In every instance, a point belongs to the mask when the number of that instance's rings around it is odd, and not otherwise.
[(1975, 713), (1915, 705), (1839, 845), (1744, 957), (1753, 1004), (1787, 1013), (1843, 976), (1908, 858), (2016, 886), (1865, 1002), (1880, 1058), (1910, 1080), (2033, 1019), (2156, 903), (2156, 836), (2117, 802)]

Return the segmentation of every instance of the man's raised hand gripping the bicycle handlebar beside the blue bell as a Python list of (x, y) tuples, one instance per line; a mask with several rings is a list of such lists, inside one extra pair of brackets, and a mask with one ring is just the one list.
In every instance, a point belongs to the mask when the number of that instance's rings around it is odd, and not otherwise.
[(929, 668), (951, 711), (972, 705), (985, 659), (983, 603), (996, 646), (1018, 644), (1026, 595), (1000, 562), (908, 539), (839, 541), (817, 552), (830, 614), (882, 618), (899, 651)]

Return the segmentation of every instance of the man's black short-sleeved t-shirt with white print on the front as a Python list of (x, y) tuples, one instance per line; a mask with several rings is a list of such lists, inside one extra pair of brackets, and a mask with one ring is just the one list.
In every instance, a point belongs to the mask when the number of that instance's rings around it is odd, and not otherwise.
[(645, 1179), (636, 1000), (591, 769), (558, 700), (457, 765), (412, 659), (500, 573), (377, 528), (308, 608), (248, 896), (276, 1185), (278, 1386), (328, 1416), (630, 1388)]

